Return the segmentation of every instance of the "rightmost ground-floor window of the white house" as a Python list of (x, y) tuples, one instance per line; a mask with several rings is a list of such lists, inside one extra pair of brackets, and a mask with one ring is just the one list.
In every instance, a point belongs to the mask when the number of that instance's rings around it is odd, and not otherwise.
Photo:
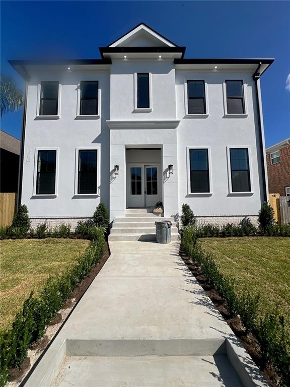
[(248, 148), (230, 148), (232, 192), (250, 192), (250, 166)]

